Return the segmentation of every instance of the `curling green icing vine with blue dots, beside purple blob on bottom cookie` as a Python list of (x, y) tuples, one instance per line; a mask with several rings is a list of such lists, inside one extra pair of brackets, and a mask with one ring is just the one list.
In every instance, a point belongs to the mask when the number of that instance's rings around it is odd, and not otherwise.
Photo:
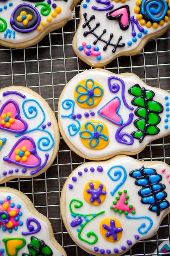
[[(98, 240), (98, 237), (97, 237), (97, 235), (96, 235), (93, 231), (90, 231), (90, 232), (88, 232), (88, 233), (86, 234), (86, 236), (87, 236), (88, 238), (90, 238), (91, 236), (94, 236), (94, 240), (91, 241), (91, 242), (88, 241), (88, 240), (86, 240), (86, 239), (84, 239), (84, 238), (82, 238), (81, 234), (82, 234), (82, 231), (83, 231), (84, 227), (85, 227), (89, 222), (91, 222), (92, 220), (94, 220), (94, 218), (96, 218), (97, 216), (99, 216), (99, 215), (105, 213), (105, 211), (100, 211), (99, 213), (95, 213), (95, 214), (81, 214), (81, 213), (75, 213), (75, 212), (73, 211), (73, 209), (72, 209), (72, 204), (74, 204), (74, 207), (75, 207), (76, 209), (79, 209), (79, 208), (81, 208), (81, 207), (83, 206), (83, 202), (80, 201), (80, 200), (76, 200), (76, 199), (71, 200), (71, 202), (70, 202), (70, 204), (69, 204), (69, 208), (70, 208), (70, 211), (71, 211), (71, 215), (74, 216), (74, 217), (78, 216), (78, 219), (75, 219), (75, 220), (73, 220), (73, 221), (71, 222), (71, 226), (72, 226), (72, 227), (77, 226), (78, 224), (75, 225), (75, 223), (79, 223), (79, 220), (80, 220), (80, 221), (81, 221), (81, 222), (80, 222), (80, 223), (81, 223), (80, 229), (77, 229), (77, 231), (78, 231), (78, 238), (79, 238), (80, 240), (82, 240), (82, 241), (84, 241), (84, 242), (90, 244), (90, 245), (95, 244), (95, 243), (97, 242), (97, 240)], [(91, 216), (91, 218), (87, 218), (88, 216)], [(83, 219), (82, 219), (81, 217), (85, 218), (85, 221), (86, 221), (86, 222), (84, 222), (84, 224), (82, 223), (82, 222), (83, 222)], [(73, 224), (72, 224), (72, 223), (73, 223)]]

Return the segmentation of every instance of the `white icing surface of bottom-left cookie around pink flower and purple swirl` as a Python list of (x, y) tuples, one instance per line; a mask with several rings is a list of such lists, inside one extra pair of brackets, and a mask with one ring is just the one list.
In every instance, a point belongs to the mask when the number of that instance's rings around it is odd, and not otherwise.
[[(64, 252), (64, 249), (62, 249), (62, 247), (56, 242), (56, 240), (53, 236), (53, 230), (52, 230), (51, 224), (50, 224), (50, 222), (47, 222), (49, 220), (45, 216), (40, 214), (38, 211), (36, 211), (35, 208), (33, 208), (33, 204), (31, 204), (31, 201), (29, 200), (29, 198), (27, 198), (23, 193), (15, 190), (15, 189), (0, 188), (0, 201), (2, 202), (4, 200), (6, 200), (8, 196), (11, 197), (11, 199), (10, 199), (11, 204), (15, 204), (15, 207), (20, 205), (20, 212), (22, 212), (22, 215), (19, 215), (20, 218), (19, 218), (18, 222), (22, 222), (22, 225), (18, 225), (17, 230), (12, 229), (12, 231), (9, 232), (9, 229), (7, 229), (6, 231), (2, 230), (4, 228), (4, 225), (2, 222), (0, 222), (0, 228), (1, 228), (0, 255), (4, 255), (4, 256), (14, 255), (14, 254), (10, 253), (10, 251), (9, 251), (10, 245), (7, 246), (7, 250), (5, 249), (5, 244), (2, 241), (2, 239), (4, 239), (4, 238), (13, 238), (13, 239), (23, 238), (26, 241), (26, 244), (24, 245), (24, 247), (21, 247), (20, 249), (18, 249), (16, 247), (16, 251), (14, 250), (14, 252), (16, 252), (15, 256), (21, 256), (22, 254), (28, 255), (29, 249), (27, 246), (30, 244), (32, 236), (38, 238), (39, 240), (43, 240), (44, 243), (48, 247), (51, 248), (53, 254), (48, 254), (48, 255), (55, 255), (55, 256), (66, 255), (66, 253)], [(3, 202), (1, 205), (3, 206)], [(5, 209), (5, 207), (4, 207), (4, 209), (8, 213), (9, 207), (6, 207), (6, 208), (7, 209)], [(2, 214), (1, 211), (0, 211), (0, 213)], [(9, 219), (9, 220), (11, 220), (11, 219)], [(30, 220), (32, 220), (32, 221), (30, 222)], [(29, 225), (32, 226), (31, 232), (28, 229)], [(38, 228), (39, 226), (40, 226), (40, 230)], [(24, 232), (24, 234), (22, 234), (22, 232)], [(44, 236), (44, 234), (45, 234), (45, 236)], [(15, 249), (15, 246), (18, 246), (18, 244), (17, 243), (15, 244), (15, 242), (14, 242), (13, 248), (11, 248), (11, 250)], [(57, 249), (57, 247), (58, 247), (58, 249)], [(4, 249), (4, 252), (1, 254), (2, 249)], [(7, 252), (9, 254), (7, 254)], [(35, 251), (34, 251), (34, 253), (35, 253)], [(40, 255), (40, 254), (37, 254), (37, 255)], [(45, 254), (45, 255), (47, 255), (47, 254)]]

